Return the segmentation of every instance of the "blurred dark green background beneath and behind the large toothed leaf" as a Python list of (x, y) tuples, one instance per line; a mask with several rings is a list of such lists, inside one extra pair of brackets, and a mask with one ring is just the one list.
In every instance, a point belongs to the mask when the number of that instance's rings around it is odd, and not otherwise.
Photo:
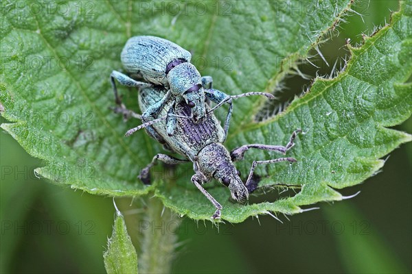
[[(331, 66), (314, 58), (319, 74), (330, 73), (361, 33), (389, 22), (397, 1), (360, 1), (339, 36), (321, 51)], [(316, 60), (318, 59), (318, 60)], [(339, 67), (341, 62), (337, 63)], [(314, 75), (313, 66), (299, 69)], [(284, 81), (282, 101), (300, 93), (308, 82), (299, 76)], [(1, 123), (5, 121), (2, 119)], [(409, 119), (396, 129), (412, 132)], [(5, 132), (0, 133), (0, 271), (1, 273), (104, 273), (102, 253), (114, 219), (113, 201), (50, 184), (34, 169), (42, 162), (25, 153)], [(412, 145), (393, 151), (383, 170), (364, 184), (341, 190), (361, 194), (319, 210), (289, 216), (248, 219), (220, 225), (183, 219), (174, 273), (411, 273)], [(139, 234), (139, 210), (130, 199), (117, 200), (129, 234)], [(165, 233), (168, 233), (167, 229)], [(139, 240), (133, 239), (135, 245)]]

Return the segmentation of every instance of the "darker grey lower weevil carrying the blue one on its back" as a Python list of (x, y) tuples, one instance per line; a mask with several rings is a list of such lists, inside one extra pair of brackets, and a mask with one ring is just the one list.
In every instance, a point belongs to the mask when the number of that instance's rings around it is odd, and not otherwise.
[[(157, 104), (165, 96), (168, 91), (161, 86), (153, 86), (147, 88), (141, 88), (139, 90), (139, 106), (141, 111), (146, 111), (152, 105)], [(118, 103), (117, 110), (121, 110), (122, 113), (132, 113), (134, 117), (141, 119), (146, 127), (146, 132), (161, 144), (165, 149), (174, 151), (183, 155), (185, 159), (174, 158), (170, 155), (159, 153), (153, 157), (152, 162), (142, 169), (139, 174), (139, 178), (148, 183), (150, 180), (150, 168), (157, 161), (164, 162), (166, 164), (179, 164), (183, 162), (192, 162), (195, 174), (192, 176), (192, 183), (209, 199), (214, 205), (216, 211), (211, 216), (212, 219), (220, 218), (220, 210), (222, 206), (209, 192), (203, 188), (203, 184), (209, 182), (212, 178), (216, 179), (221, 184), (227, 186), (231, 192), (231, 197), (236, 201), (243, 203), (249, 198), (249, 192), (247, 186), (252, 182), (253, 172), (258, 164), (270, 164), (274, 162), (296, 162), (295, 158), (277, 158), (272, 160), (253, 161), (249, 176), (245, 184), (240, 179), (240, 173), (238, 173), (233, 162), (242, 160), (244, 153), (251, 148), (263, 149), (267, 151), (279, 151), (286, 153), (288, 149), (293, 147), (295, 137), (300, 129), (293, 132), (290, 136), (290, 140), (286, 146), (276, 145), (262, 145), (251, 144), (242, 145), (236, 149), (233, 149), (230, 153), (222, 145), (225, 141), (226, 132), (220, 125), (220, 121), (216, 119), (213, 112), (209, 112), (209, 105), (203, 103), (207, 114), (205, 119), (198, 123), (194, 123), (192, 119), (187, 119), (187, 116), (191, 116), (192, 108), (185, 101), (176, 103), (175, 101), (166, 101), (165, 108), (161, 110), (161, 119), (146, 120), (142, 116), (127, 110), (116, 96), (116, 102)], [(174, 112), (175, 115), (168, 115), (170, 112)], [(150, 119), (150, 117), (149, 117)], [(168, 134), (168, 121), (174, 126), (174, 134), (170, 136)], [(228, 121), (225, 121), (225, 128), (228, 127)], [(143, 128), (143, 127), (139, 127)], [(137, 129), (130, 129), (126, 136), (133, 134)]]

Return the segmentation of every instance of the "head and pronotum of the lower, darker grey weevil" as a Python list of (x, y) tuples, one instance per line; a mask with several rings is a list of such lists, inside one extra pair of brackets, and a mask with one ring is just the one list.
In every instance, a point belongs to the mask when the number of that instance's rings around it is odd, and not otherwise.
[(223, 145), (214, 142), (204, 147), (198, 153), (198, 164), (206, 177), (214, 177), (227, 186), (233, 199), (240, 203), (249, 199), (249, 192), (231, 161), (229, 151)]

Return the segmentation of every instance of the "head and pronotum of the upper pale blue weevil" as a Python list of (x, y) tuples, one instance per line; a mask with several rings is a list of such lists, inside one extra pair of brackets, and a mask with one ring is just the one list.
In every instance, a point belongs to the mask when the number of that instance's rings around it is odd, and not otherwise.
[(168, 72), (168, 82), (172, 95), (182, 98), (192, 108), (195, 122), (205, 118), (205, 92), (202, 87), (201, 74), (189, 62), (174, 66)]

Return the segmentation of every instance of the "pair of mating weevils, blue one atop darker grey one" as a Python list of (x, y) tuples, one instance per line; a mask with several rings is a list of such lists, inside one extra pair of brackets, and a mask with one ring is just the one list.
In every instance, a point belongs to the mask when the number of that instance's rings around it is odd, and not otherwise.
[[(229, 128), (232, 110), (231, 99), (248, 95), (271, 96), (264, 92), (249, 92), (244, 95), (229, 96), (218, 90), (213, 90), (211, 89), (211, 77), (201, 78), (196, 68), (189, 63), (190, 57), (190, 53), (168, 40), (152, 36), (130, 38), (122, 52), (122, 62), (128, 72), (132, 73), (132, 77), (138, 74), (151, 84), (137, 82), (122, 73), (113, 71), (111, 83), (117, 103), (114, 110), (126, 116), (141, 119), (143, 122), (139, 127), (130, 129), (126, 136), (133, 134), (138, 129), (145, 128), (146, 132), (163, 144), (165, 149), (185, 157), (184, 160), (181, 160), (159, 153), (141, 171), (139, 178), (148, 183), (150, 181), (150, 168), (158, 160), (166, 164), (193, 162), (195, 174), (192, 176), (191, 181), (215, 206), (216, 212), (211, 218), (219, 219), (222, 206), (202, 185), (214, 178), (229, 188), (233, 199), (240, 203), (247, 201), (249, 198), (247, 186), (251, 184), (253, 172), (258, 164), (282, 161), (296, 162), (296, 160), (294, 158), (277, 158), (253, 161), (245, 184), (240, 179), (240, 173), (233, 162), (242, 160), (244, 153), (251, 148), (286, 153), (288, 149), (293, 147), (293, 141), (300, 130), (293, 132), (286, 146), (242, 145), (229, 153), (222, 145), (222, 142), (225, 141)], [(185, 65), (182, 66), (183, 64)], [(170, 77), (170, 73), (179, 66), (181, 66), (181, 69), (172, 73), (174, 76)], [(121, 84), (139, 88), (138, 98), (140, 109), (143, 112), (142, 115), (127, 110), (122, 104), (117, 95), (114, 78), (119, 80)], [(191, 84), (194, 85), (190, 86)], [(196, 88), (193, 88), (194, 86)], [(183, 90), (185, 91), (183, 92)], [(205, 103), (205, 95), (211, 101), (217, 103), (214, 108), (210, 108)], [(213, 110), (223, 103), (230, 103), (230, 107), (225, 125), (222, 128)], [(194, 108), (195, 106), (196, 108)], [(197, 116), (195, 116), (196, 111), (198, 111)], [(156, 119), (156, 116), (160, 116), (160, 118)]]

